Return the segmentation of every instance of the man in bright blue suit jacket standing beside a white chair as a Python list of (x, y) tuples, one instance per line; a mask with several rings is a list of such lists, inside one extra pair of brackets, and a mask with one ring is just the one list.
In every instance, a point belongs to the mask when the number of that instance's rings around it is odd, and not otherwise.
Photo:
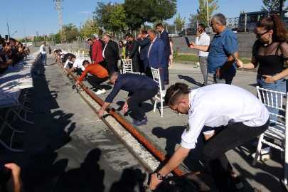
[(146, 61), (150, 68), (159, 69), (161, 88), (165, 90), (164, 69), (166, 68), (166, 63), (164, 58), (164, 42), (161, 38), (157, 38), (155, 30), (151, 29), (148, 34), (151, 44), (146, 55)]

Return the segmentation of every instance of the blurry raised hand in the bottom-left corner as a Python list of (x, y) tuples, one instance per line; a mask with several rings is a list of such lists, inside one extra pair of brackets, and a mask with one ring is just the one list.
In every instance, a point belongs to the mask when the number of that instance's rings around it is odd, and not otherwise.
[(5, 164), (7, 169), (11, 169), (11, 177), (6, 183), (6, 191), (8, 192), (22, 192), (23, 184), (20, 178), (21, 169), (16, 164)]

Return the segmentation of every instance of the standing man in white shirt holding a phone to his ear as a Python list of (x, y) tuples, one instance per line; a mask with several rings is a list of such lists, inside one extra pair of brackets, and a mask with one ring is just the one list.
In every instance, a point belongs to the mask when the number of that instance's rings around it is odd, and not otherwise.
[[(205, 25), (203, 23), (200, 23), (198, 26), (195, 44), (197, 46), (209, 46), (210, 44), (210, 36), (206, 34)], [(204, 86), (206, 82), (208, 53), (209, 52), (198, 50), (200, 69), (204, 79), (202, 86)]]

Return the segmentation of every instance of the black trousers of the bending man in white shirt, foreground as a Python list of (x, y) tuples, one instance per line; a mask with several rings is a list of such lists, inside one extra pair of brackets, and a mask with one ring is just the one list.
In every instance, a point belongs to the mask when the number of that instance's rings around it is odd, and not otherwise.
[(242, 122), (228, 124), (205, 144), (202, 155), (220, 192), (238, 191), (230, 173), (225, 152), (253, 139), (268, 129), (270, 120), (260, 127), (249, 127)]

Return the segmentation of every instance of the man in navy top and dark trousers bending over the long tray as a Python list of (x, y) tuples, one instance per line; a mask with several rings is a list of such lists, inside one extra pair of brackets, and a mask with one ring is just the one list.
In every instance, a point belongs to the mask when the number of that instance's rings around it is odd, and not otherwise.
[(114, 85), (112, 92), (106, 97), (104, 105), (100, 110), (97, 110), (99, 117), (103, 117), (106, 108), (114, 100), (114, 97), (120, 90), (129, 92), (126, 102), (124, 103), (123, 112), (129, 110), (134, 114), (135, 119), (133, 124), (140, 126), (146, 124), (148, 119), (142, 108), (142, 102), (150, 100), (159, 90), (158, 83), (144, 75), (124, 73), (119, 75), (118, 72), (113, 72), (109, 78)]

